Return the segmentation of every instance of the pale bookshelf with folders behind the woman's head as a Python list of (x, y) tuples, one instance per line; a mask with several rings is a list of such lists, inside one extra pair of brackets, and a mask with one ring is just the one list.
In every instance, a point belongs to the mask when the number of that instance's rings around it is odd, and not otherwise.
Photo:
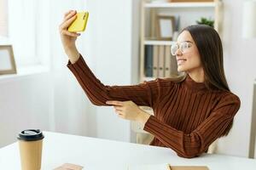
[[(177, 35), (182, 28), (196, 24), (196, 21), (202, 17), (207, 17), (214, 20), (214, 29), (221, 34), (222, 7), (223, 3), (220, 0), (212, 0), (212, 2), (191, 0), (182, 3), (177, 3), (177, 0), (166, 1), (166, 3), (142, 0), (140, 82), (154, 80), (157, 77), (178, 77), (180, 73), (177, 72), (177, 61), (171, 54), (171, 45), (177, 41), (174, 32)], [(172, 22), (174, 23), (172, 38), (165, 39), (158, 36), (159, 15), (170, 19), (175, 18)]]

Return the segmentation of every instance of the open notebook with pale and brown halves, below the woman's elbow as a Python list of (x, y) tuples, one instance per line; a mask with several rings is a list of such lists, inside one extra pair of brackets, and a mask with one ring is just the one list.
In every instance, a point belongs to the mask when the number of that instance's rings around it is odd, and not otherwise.
[(164, 164), (148, 164), (148, 165), (132, 165), (128, 170), (209, 170), (205, 166), (170, 166), (169, 163)]

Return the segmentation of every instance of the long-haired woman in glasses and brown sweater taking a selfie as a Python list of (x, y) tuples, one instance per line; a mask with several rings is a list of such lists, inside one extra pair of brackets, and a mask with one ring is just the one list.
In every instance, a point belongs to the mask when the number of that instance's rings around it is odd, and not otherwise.
[[(61, 41), (73, 72), (94, 105), (113, 105), (121, 118), (141, 122), (154, 135), (152, 145), (171, 148), (178, 156), (195, 157), (227, 135), (240, 99), (230, 92), (224, 76), (223, 48), (218, 32), (210, 26), (188, 26), (172, 46), (179, 82), (157, 78), (134, 86), (106, 86), (90, 71), (75, 46), (79, 34), (67, 31), (76, 11), (65, 14)], [(138, 105), (154, 109), (154, 116)]]

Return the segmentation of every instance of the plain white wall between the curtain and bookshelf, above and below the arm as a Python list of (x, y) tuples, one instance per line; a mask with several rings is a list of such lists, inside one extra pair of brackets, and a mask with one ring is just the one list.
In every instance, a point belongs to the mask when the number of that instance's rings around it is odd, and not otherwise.
[[(106, 85), (131, 84), (132, 1), (89, 0), (90, 51), (92, 69)], [(91, 26), (91, 27), (90, 27)], [(120, 119), (112, 107), (96, 107), (96, 137), (131, 140), (130, 122)]]

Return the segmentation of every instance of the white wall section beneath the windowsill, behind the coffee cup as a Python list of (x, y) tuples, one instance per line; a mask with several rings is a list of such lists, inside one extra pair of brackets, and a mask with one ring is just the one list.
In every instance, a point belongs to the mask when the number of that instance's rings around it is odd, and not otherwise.
[(24, 128), (49, 130), (48, 80), (48, 73), (0, 80), (0, 147)]

